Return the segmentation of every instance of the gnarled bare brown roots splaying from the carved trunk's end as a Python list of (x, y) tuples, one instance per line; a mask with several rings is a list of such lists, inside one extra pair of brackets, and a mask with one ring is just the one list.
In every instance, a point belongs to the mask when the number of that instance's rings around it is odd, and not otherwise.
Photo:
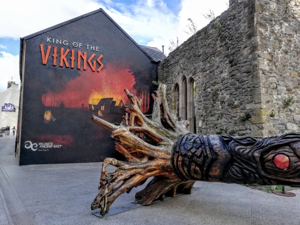
[[(188, 123), (179, 122), (171, 113), (166, 100), (166, 88), (166, 85), (160, 84), (156, 95), (152, 95), (152, 120), (143, 115), (141, 101), (127, 89), (125, 92), (130, 104), (125, 107), (122, 124), (111, 124), (92, 116), (93, 122), (112, 131), (116, 150), (126, 159), (126, 162), (113, 158), (104, 160), (98, 187), (100, 191), (91, 205), (92, 210), (101, 208), (101, 214), (104, 215), (119, 195), (129, 193), (149, 177), (154, 178), (144, 190), (136, 193), (137, 203), (150, 204), (165, 193), (174, 196), (176, 189), (190, 193), (193, 182), (180, 180), (170, 165), (172, 147), (180, 135), (189, 133)], [(115, 172), (106, 171), (109, 164), (117, 167)]]

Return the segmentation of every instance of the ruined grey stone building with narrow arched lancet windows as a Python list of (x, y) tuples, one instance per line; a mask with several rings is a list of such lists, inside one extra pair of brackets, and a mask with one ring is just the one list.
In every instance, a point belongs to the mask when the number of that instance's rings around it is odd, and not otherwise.
[[(179, 86), (179, 116), (192, 122), (194, 115), (198, 134), (299, 132), (299, 32), (297, 0), (231, 0), (226, 11), (170, 52), (158, 79), (168, 85), (171, 106)], [(191, 81), (195, 103), (188, 97)]]

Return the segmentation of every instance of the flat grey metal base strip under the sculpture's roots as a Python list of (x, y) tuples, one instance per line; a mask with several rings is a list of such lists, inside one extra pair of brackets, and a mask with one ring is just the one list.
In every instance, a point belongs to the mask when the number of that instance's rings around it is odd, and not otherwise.
[[(193, 187), (193, 190), (198, 190), (200, 187)], [(175, 195), (176, 196), (179, 196), (179, 195), (182, 195), (183, 193), (178, 193)], [(172, 197), (164, 197), (164, 200), (165, 199), (169, 199), (169, 198), (172, 198)], [(159, 202), (160, 200), (154, 200), (153, 202), (151, 202), (150, 204), (153, 204), (155, 202)], [(124, 204), (124, 205), (119, 205), (119, 206), (116, 206), (116, 207), (112, 207), (110, 208), (110, 210), (107, 212), (107, 214), (105, 214), (104, 216), (102, 216), (100, 214), (100, 211), (97, 210), (97, 211), (94, 211), (92, 212), (93, 215), (99, 217), (99, 218), (104, 218), (104, 217), (108, 217), (108, 216), (112, 216), (112, 215), (115, 215), (115, 214), (118, 214), (120, 212), (125, 212), (125, 211), (128, 211), (128, 210), (131, 210), (131, 209), (134, 209), (134, 208), (139, 208), (143, 205), (141, 204), (136, 204), (136, 203), (127, 203), (127, 204)]]

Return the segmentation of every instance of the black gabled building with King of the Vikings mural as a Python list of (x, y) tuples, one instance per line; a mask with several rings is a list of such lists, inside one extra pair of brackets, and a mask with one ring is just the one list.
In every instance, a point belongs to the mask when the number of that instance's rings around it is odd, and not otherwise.
[(110, 134), (91, 115), (121, 122), (125, 88), (151, 114), (152, 81), (165, 57), (156, 50), (139, 46), (102, 9), (21, 38), (19, 164), (111, 157)]

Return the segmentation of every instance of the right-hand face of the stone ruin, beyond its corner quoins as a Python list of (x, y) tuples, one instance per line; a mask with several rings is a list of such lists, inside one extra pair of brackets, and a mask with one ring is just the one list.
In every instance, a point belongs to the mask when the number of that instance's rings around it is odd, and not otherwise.
[(300, 2), (256, 2), (262, 132), (265, 136), (299, 132)]

